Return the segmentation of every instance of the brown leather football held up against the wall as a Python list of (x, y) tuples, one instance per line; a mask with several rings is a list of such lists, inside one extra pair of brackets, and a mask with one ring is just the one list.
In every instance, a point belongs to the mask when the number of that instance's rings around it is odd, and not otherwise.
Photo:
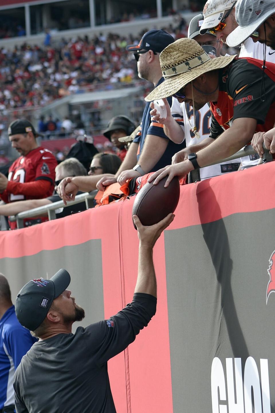
[(166, 180), (167, 176), (157, 185), (146, 183), (137, 193), (132, 215), (137, 215), (142, 225), (154, 225), (175, 211), (179, 202), (179, 179), (174, 176), (169, 186), (164, 188)]

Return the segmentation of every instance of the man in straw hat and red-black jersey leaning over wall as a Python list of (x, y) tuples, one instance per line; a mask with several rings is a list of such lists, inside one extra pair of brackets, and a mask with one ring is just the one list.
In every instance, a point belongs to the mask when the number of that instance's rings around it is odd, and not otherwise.
[[(210, 138), (214, 141), (188, 159), (166, 166), (148, 179), (155, 184), (169, 175), (165, 187), (174, 176), (185, 176), (193, 169), (220, 162), (250, 142), (254, 132), (273, 126), (275, 113), (275, 65), (257, 59), (235, 56), (211, 59), (194, 40), (176, 40), (160, 54), (165, 81), (145, 100), (175, 95), (179, 102), (200, 109), (210, 102), (212, 121)], [(262, 88), (266, 85), (265, 93)], [(268, 129), (266, 129), (268, 128)]]

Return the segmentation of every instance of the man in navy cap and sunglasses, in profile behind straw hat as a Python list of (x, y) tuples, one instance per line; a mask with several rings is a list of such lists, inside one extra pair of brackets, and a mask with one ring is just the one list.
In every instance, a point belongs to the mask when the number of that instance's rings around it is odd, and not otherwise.
[[(173, 42), (174, 38), (166, 31), (150, 30), (142, 36), (137, 45), (126, 47), (128, 52), (134, 53), (139, 78), (146, 79), (155, 87), (164, 81), (160, 70), (160, 52)], [(172, 104), (172, 99), (169, 104)], [(179, 147), (165, 135), (163, 125), (152, 121), (150, 106), (147, 103), (139, 131), (115, 178), (102, 178), (96, 187), (104, 191), (105, 187), (112, 183), (118, 182), (123, 185), (128, 179), (156, 171), (160, 165), (163, 167), (171, 163), (173, 155), (183, 147), (184, 142)]]

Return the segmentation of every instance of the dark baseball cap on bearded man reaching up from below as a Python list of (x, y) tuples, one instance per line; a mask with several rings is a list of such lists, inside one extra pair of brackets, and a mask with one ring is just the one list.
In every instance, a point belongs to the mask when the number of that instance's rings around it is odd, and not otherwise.
[(49, 280), (35, 278), (27, 282), (15, 301), (15, 313), (19, 323), (28, 330), (36, 330), (46, 318), (54, 299), (66, 290), (70, 282), (70, 274), (63, 268)]

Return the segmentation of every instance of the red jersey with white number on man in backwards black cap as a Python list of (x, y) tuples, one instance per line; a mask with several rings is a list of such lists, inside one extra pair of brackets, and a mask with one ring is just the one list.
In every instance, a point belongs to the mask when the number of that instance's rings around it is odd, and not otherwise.
[[(40, 146), (30, 151), (26, 156), (21, 156), (14, 161), (12, 166), (9, 167), (8, 180), (20, 183), (32, 182), (39, 179), (48, 180), (51, 186), (43, 197), (47, 198), (52, 195), (54, 190), (56, 165), (57, 162), (54, 154)], [(14, 195), (8, 193), (9, 202), (35, 198), (38, 198), (35, 193), (32, 195)]]

